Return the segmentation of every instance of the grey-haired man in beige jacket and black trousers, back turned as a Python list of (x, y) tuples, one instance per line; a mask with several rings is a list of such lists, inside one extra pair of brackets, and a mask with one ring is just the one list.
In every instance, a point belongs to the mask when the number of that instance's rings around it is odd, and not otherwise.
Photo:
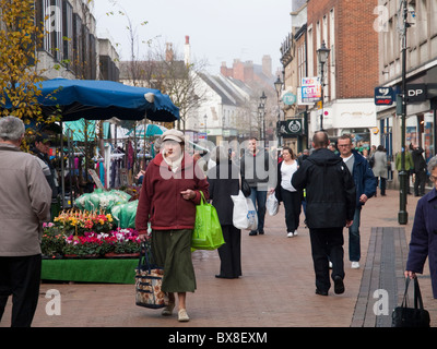
[(32, 324), (39, 296), (42, 224), (51, 190), (35, 156), (20, 151), (24, 123), (0, 118), (0, 320), (12, 294), (11, 326)]

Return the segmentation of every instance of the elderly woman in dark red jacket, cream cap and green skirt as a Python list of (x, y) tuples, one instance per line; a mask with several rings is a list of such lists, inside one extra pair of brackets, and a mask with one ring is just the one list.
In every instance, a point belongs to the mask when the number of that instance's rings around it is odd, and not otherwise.
[(178, 294), (178, 320), (189, 321), (186, 292), (196, 289), (191, 261), (191, 236), (196, 224), (196, 205), (201, 194), (209, 197), (203, 172), (184, 152), (185, 136), (178, 130), (162, 135), (161, 153), (144, 173), (135, 216), (135, 228), (141, 239), (152, 227), (152, 251), (156, 263), (164, 267), (162, 290), (168, 292), (169, 303), (163, 315), (172, 315), (175, 294)]

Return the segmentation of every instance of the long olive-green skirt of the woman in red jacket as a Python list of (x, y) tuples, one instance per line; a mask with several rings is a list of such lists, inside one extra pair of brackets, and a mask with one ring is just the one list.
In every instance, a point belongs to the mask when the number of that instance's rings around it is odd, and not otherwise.
[(191, 236), (192, 229), (152, 231), (152, 252), (156, 264), (164, 267), (164, 292), (196, 290)]

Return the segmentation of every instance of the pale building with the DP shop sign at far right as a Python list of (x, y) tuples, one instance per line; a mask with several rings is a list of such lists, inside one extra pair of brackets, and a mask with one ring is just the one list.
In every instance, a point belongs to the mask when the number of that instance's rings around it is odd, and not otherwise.
[[(402, 93), (403, 7), (400, 0), (379, 1), (379, 86)], [(409, 0), (405, 82), (408, 88), (405, 145), (418, 144), (428, 161), (436, 155), (437, 0)], [(394, 159), (402, 147), (401, 103), (377, 107), (381, 144)], [(393, 167), (394, 169), (394, 167)], [(398, 184), (398, 177), (393, 177)]]

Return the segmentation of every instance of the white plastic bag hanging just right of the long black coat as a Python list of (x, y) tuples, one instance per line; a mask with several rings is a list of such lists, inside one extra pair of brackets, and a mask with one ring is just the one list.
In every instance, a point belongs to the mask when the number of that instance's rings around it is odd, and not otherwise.
[(250, 197), (245, 197), (241, 191), (238, 195), (231, 195), (234, 202), (233, 224), (237, 229), (257, 230), (258, 216)]

